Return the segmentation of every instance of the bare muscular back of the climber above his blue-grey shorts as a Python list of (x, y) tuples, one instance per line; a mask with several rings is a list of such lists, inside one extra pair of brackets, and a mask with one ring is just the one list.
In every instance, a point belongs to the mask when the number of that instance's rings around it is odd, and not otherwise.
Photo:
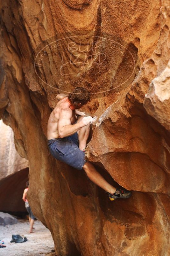
[(70, 124), (74, 124), (75, 110), (71, 110), (69, 106), (68, 97), (64, 97), (57, 103), (56, 107), (51, 112), (47, 126), (48, 140), (60, 138), (58, 134), (58, 121), (64, 117), (66, 111), (70, 114)]

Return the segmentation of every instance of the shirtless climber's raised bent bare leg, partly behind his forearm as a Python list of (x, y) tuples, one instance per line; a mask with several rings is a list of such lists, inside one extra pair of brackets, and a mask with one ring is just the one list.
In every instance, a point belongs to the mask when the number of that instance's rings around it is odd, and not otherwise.
[[(81, 119), (83, 118), (80, 117), (77, 120), (77, 123), (81, 121)], [(86, 144), (87, 144), (87, 140), (89, 138), (89, 133), (90, 133), (90, 123), (84, 127), (82, 127), (80, 130), (78, 130), (78, 137), (79, 137), (79, 149), (83, 150), (86, 148)]]

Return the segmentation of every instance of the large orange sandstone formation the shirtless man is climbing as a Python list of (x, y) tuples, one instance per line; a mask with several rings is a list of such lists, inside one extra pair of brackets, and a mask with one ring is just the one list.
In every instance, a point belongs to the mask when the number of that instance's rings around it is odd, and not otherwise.
[[(168, 4), (1, 0), (0, 114), (29, 161), (30, 204), (57, 256), (168, 256)], [(83, 66), (85, 53), (92, 58)], [(98, 117), (87, 159), (109, 182), (132, 190), (129, 199), (109, 201), (84, 171), (49, 153), (55, 97), (75, 85), (89, 89), (82, 110)]]

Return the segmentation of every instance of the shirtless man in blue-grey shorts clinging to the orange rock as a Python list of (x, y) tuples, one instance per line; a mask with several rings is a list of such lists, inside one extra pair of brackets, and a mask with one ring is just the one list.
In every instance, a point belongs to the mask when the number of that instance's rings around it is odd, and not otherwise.
[[(85, 159), (90, 125), (94, 120), (77, 109), (88, 103), (89, 92), (82, 87), (76, 87), (67, 95), (58, 94), (57, 99), (59, 102), (48, 120), (47, 137), (50, 153), (54, 158), (78, 170), (83, 169), (92, 182), (108, 193), (111, 201), (117, 198), (129, 198), (131, 196), (129, 190), (111, 186), (96, 171), (93, 164)], [(78, 120), (75, 120), (76, 114), (81, 116)]]

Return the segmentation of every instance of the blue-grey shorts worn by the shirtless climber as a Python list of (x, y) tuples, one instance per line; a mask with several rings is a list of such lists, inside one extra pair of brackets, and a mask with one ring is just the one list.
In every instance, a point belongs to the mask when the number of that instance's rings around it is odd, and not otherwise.
[(48, 140), (48, 147), (54, 158), (78, 170), (87, 162), (85, 153), (79, 149), (77, 132), (65, 138)]

